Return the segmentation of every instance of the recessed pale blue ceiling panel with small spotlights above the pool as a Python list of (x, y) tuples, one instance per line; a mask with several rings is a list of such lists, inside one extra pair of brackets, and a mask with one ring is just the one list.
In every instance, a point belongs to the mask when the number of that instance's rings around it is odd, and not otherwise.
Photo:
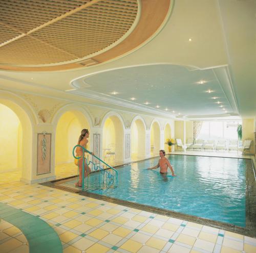
[[(225, 72), (224, 67), (221, 70)], [(205, 83), (200, 84), (201, 81)], [(73, 85), (86, 96), (91, 91), (103, 93), (114, 100), (124, 99), (178, 115), (237, 114), (221, 82), (215, 69), (158, 64), (104, 71), (77, 79)]]

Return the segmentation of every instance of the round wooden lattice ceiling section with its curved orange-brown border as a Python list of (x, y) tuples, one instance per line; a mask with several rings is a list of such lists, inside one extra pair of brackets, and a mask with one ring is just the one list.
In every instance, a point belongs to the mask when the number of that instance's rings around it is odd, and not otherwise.
[(172, 0), (0, 3), (0, 69), (88, 67), (142, 46), (167, 21)]

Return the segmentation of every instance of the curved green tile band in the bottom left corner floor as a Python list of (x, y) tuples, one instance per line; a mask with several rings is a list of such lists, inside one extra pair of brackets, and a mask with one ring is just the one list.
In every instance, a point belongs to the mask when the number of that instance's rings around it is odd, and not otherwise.
[(0, 218), (15, 225), (23, 232), (29, 243), (29, 252), (62, 252), (57, 233), (44, 220), (4, 203), (0, 203)]

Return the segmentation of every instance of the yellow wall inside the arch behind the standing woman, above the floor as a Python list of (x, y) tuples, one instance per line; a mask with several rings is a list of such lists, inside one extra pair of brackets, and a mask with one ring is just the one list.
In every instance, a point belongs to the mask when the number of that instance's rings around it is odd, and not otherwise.
[[(60, 117), (56, 128), (56, 164), (74, 160), (72, 150), (78, 142), (82, 129), (89, 129), (89, 124), (81, 113), (69, 111)], [(90, 138), (87, 147), (90, 149)]]

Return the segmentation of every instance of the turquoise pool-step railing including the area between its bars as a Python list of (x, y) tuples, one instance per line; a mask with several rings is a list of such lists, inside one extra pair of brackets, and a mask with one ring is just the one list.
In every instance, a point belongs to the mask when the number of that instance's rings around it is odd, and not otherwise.
[[(75, 149), (81, 147), (83, 152), (82, 156), (75, 156)], [(87, 157), (85, 154), (88, 154)], [(97, 190), (97, 189), (107, 189), (110, 187), (115, 187), (118, 183), (118, 172), (116, 169), (106, 164), (100, 158), (84, 148), (81, 145), (75, 145), (73, 148), (73, 157), (78, 161), (78, 178), (79, 181), (79, 159), (82, 159), (82, 190)], [(92, 159), (90, 159), (92, 157)], [(85, 172), (87, 172), (86, 178), (84, 178)], [(78, 182), (77, 181), (77, 182)]]

